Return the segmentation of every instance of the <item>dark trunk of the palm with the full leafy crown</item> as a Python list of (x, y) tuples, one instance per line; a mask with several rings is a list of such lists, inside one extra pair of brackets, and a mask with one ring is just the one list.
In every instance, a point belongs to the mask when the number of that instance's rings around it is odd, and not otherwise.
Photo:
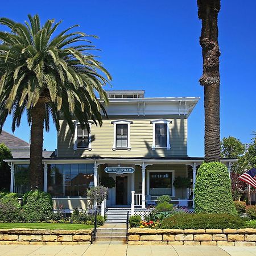
[(30, 186), (31, 190), (43, 190), (43, 131), (46, 109), (44, 100), (31, 110), (31, 139), (30, 139)]

